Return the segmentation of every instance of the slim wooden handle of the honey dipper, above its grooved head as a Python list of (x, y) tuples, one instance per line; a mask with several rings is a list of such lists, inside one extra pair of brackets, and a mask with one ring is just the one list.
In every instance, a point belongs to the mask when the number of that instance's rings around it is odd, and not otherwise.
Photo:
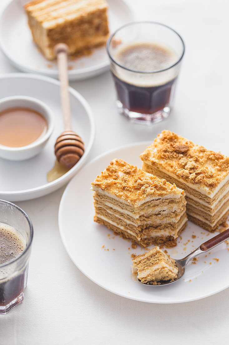
[(61, 106), (64, 118), (64, 129), (72, 129), (70, 114), (70, 99), (68, 92), (68, 46), (65, 43), (58, 43), (54, 47), (61, 83)]

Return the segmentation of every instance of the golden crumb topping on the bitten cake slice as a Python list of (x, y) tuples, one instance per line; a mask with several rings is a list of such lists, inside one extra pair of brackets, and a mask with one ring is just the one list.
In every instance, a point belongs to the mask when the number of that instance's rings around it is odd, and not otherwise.
[(185, 196), (184, 191), (175, 184), (148, 174), (122, 159), (112, 160), (92, 182), (93, 186), (109, 191), (132, 205), (148, 196), (160, 198), (170, 193), (178, 197)]

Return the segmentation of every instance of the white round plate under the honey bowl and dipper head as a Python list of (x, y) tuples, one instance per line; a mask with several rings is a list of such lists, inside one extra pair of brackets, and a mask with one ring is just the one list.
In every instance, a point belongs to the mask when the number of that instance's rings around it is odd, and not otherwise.
[(85, 142), (85, 153), (79, 162), (65, 175), (48, 183), (47, 172), (54, 166), (54, 144), (63, 132), (63, 120), (59, 96), (59, 82), (55, 79), (25, 73), (0, 76), (0, 99), (8, 96), (31, 96), (45, 102), (55, 116), (55, 128), (42, 152), (28, 160), (0, 159), (0, 199), (20, 201), (37, 198), (66, 184), (83, 166), (91, 149), (95, 124), (86, 100), (73, 88), (69, 88), (72, 128)]

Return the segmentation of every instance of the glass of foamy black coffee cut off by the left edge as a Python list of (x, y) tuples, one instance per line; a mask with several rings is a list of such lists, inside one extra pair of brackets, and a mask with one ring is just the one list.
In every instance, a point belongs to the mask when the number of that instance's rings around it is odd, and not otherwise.
[(0, 314), (23, 301), (32, 239), (28, 215), (9, 201), (0, 200)]

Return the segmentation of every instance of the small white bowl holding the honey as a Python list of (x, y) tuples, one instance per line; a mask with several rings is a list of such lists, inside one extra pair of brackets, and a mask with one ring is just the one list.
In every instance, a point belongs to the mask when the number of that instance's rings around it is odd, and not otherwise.
[(9, 147), (0, 145), (0, 157), (8, 160), (25, 160), (40, 153), (54, 129), (53, 114), (50, 107), (44, 102), (28, 96), (12, 96), (0, 100), (0, 112), (9, 108), (30, 108), (39, 112), (47, 120), (48, 128), (45, 135), (37, 138), (29, 145)]

